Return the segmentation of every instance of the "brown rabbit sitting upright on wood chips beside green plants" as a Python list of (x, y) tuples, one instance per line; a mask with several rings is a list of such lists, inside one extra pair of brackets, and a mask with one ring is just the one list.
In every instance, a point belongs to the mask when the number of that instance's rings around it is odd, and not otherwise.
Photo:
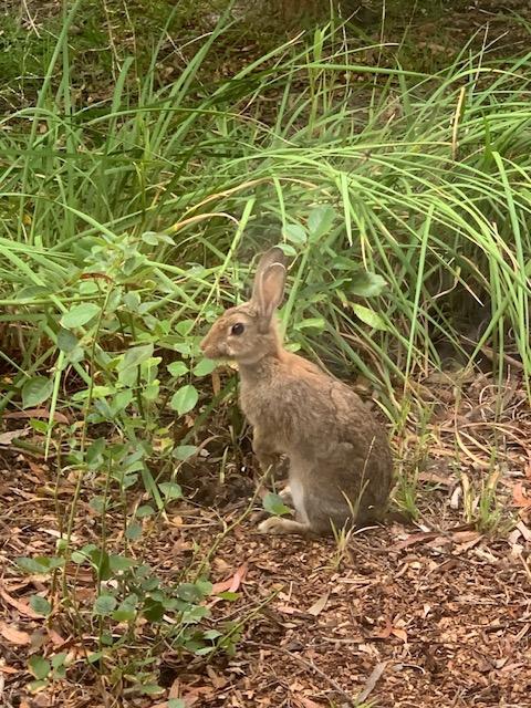
[(346, 384), (283, 348), (275, 319), (287, 279), (278, 247), (260, 260), (249, 302), (227, 310), (200, 348), (238, 364), (240, 406), (263, 470), (289, 459), (295, 518), (270, 517), (262, 533), (325, 535), (383, 520), (393, 487), (384, 428)]

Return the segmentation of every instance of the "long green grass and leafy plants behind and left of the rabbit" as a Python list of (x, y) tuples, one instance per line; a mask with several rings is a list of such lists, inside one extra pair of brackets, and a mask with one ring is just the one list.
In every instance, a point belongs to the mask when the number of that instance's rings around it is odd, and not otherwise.
[[(75, 594), (62, 571), (72, 553), (98, 592), (113, 563), (129, 573), (112, 600), (100, 592), (98, 620), (85, 606), (70, 617), (97, 637), (98, 670), (125, 674), (134, 632), (103, 649), (122, 616), (169, 607), (171, 646), (232, 650), (233, 628), (189, 631), (187, 613), (208, 594), (200, 559), (179, 575), (184, 590), (155, 602), (135, 542), (146, 514), (180, 498), (179, 470), (202, 426), (233, 399), (231, 378), (212, 394), (198, 341), (221, 306), (246, 296), (258, 251), (281, 242), (292, 257), (291, 345), (347, 378), (362, 373), (397, 428), (415, 403), (410, 382), (440, 364), (437, 343), (470, 354), (478, 312), (488, 322), (472, 362), (488, 344), (501, 377), (514, 347), (529, 391), (531, 55), (502, 67), (465, 48), (426, 75), (368, 64), (372, 49), (332, 22), (208, 80), (205, 62), (229, 31), (222, 19), (170, 81), (157, 74), (163, 30), (142, 71), (133, 58), (114, 61), (112, 95), (88, 103), (69, 39), (82, 7), (58, 25), (34, 103), (1, 119), (0, 410), (73, 414), (70, 425), (31, 423), (40, 449), (59, 455), (58, 479), (75, 479), (58, 556), (40, 570), (64, 597)], [(142, 512), (127, 504), (137, 486)], [(413, 512), (415, 480), (405, 493)], [(86, 494), (102, 513), (100, 543), (77, 549)], [(111, 512), (123, 516), (119, 548)], [(50, 679), (44, 668), (39, 680)]]

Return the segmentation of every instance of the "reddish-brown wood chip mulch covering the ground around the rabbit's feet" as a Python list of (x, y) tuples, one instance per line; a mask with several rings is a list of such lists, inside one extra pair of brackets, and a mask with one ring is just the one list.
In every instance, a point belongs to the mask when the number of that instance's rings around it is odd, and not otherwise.
[[(418, 473), (416, 524), (364, 530), (345, 548), (334, 540), (261, 537), (252, 518), (223, 534), (222, 523), (231, 524), (249, 503), (252, 483), (247, 479), (246, 493), (241, 471), (228, 476), (223, 488), (233, 493), (216, 507), (176, 502), (167, 519), (146, 520), (133, 549), (166, 580), (179, 577), (192, 558), (219, 543), (210, 576), (218, 591), (235, 591), (238, 600), (215, 604), (212, 618), (216, 626), (242, 622), (233, 656), (220, 653), (207, 663), (163, 647), (156, 665), (165, 694), (156, 697), (135, 695), (134, 681), (126, 678), (114, 689), (95, 680), (83, 660), (94, 637), (73, 632), (50, 579), (24, 575), (14, 564), (20, 555), (54, 552), (55, 472), (53, 462), (21, 455), (9, 444), (0, 448), (1, 705), (164, 708), (168, 698), (184, 698), (196, 708), (324, 708), (364, 700), (381, 708), (531, 707), (531, 413), (525, 396), (518, 381), (500, 392), (485, 375), (461, 382), (457, 397), (455, 381), (436, 377), (424, 386), (439, 407), (426, 433), (429, 460)], [(501, 415), (496, 410), (500, 396)], [(395, 440), (399, 468), (409, 464), (408, 455), (417, 455), (417, 445), (413, 428)], [(486, 534), (478, 530), (478, 503), (481, 481), (491, 477), (489, 465), (498, 475), (496, 501), (504, 516)], [(205, 461), (197, 498), (201, 486), (215, 483), (212, 467)], [(61, 513), (74, 481), (67, 476), (60, 481)], [(139, 501), (140, 490), (131, 496)], [(74, 530), (80, 546), (97, 540), (98, 514), (90, 498), (87, 480)], [(476, 523), (467, 523), (467, 513)], [(121, 520), (115, 523), (108, 529), (111, 543), (123, 534)], [(91, 573), (79, 573), (75, 585), (80, 602), (94, 597)], [(35, 593), (55, 601), (48, 623), (28, 603)], [(146, 652), (149, 627), (145, 632), (138, 628), (132, 656)], [(29, 657), (59, 652), (70, 653), (66, 677), (32, 695)]]

